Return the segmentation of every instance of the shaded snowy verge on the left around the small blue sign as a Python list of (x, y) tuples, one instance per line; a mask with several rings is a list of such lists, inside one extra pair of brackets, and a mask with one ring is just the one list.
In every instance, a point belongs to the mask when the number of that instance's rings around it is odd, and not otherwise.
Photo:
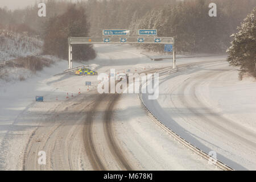
[[(22, 169), (24, 147), (31, 133), (40, 121), (46, 119), (57, 105), (65, 101), (67, 92), (71, 93), (72, 89), (74, 95), (75, 91), (76, 94), (79, 92), (79, 86), (76, 89), (71, 86), (67, 90), (52, 86), (56, 80), (61, 85), (61, 80), (67, 77), (53, 75), (63, 73), (68, 67), (68, 61), (53, 56), (45, 57), (52, 59), (53, 64), (50, 67), (32, 73), (24, 81), (0, 82), (0, 169)], [(79, 65), (81, 63), (74, 63), (75, 67)], [(24, 73), (30, 74), (27, 70)], [(81, 89), (85, 90), (82, 87)], [(42, 107), (35, 102), (35, 96), (44, 96), (46, 106)], [(56, 97), (60, 102), (55, 102)]]

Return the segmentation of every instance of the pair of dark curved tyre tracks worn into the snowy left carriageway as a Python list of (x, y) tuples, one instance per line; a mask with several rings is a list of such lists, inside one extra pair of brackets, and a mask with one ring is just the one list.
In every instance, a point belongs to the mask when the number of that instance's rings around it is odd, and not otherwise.
[(97, 114), (97, 107), (101, 104), (106, 104), (105, 102), (107, 102), (107, 109), (104, 111), (104, 119), (101, 121), (101, 123), (102, 125), (104, 125), (104, 134), (107, 140), (108, 147), (110, 148), (110, 152), (114, 156), (115, 162), (118, 163), (120, 168), (125, 170), (132, 170), (132, 167), (127, 162), (121, 148), (119, 148), (117, 141), (115, 140), (112, 126), (113, 109), (114, 105), (119, 99), (119, 96), (119, 94), (100, 94), (94, 106), (89, 111), (86, 117), (86, 124), (84, 126), (84, 144), (85, 150), (94, 170), (108, 169), (104, 161), (101, 160), (100, 154), (96, 149), (97, 139), (93, 137), (93, 122), (94, 117)]

